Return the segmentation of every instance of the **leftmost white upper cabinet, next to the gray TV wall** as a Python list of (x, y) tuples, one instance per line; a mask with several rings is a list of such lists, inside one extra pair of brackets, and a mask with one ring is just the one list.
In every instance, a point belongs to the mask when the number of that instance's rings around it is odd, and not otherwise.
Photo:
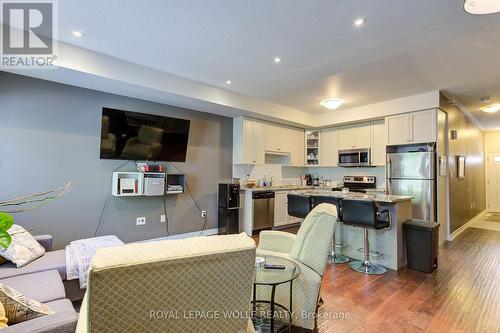
[(264, 164), (263, 123), (244, 117), (233, 119), (233, 163)]

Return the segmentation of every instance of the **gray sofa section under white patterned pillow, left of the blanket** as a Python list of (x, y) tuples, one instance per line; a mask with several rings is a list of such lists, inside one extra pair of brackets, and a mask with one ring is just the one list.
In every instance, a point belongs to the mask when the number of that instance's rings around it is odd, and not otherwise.
[(13, 263), (0, 266), (0, 279), (12, 276), (57, 270), (63, 280), (66, 280), (66, 251), (57, 250), (45, 252), (40, 258), (30, 262), (28, 265), (17, 268)]

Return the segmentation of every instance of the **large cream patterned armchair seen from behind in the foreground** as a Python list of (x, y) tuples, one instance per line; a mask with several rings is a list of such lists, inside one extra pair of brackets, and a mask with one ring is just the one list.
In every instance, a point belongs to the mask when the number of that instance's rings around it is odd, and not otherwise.
[(245, 234), (99, 249), (76, 332), (253, 332), (254, 269)]

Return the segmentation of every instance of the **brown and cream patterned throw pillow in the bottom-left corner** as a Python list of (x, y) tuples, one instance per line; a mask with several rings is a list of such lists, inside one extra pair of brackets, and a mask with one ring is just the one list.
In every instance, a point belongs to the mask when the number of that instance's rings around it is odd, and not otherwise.
[(9, 323), (12, 324), (54, 313), (49, 306), (29, 299), (19, 291), (4, 284), (0, 284), (0, 302), (4, 305), (5, 315)]

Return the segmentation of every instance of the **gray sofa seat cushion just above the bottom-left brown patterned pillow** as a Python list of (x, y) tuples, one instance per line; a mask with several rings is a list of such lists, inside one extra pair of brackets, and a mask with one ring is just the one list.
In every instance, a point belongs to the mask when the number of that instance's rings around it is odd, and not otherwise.
[(0, 279), (0, 283), (42, 303), (66, 298), (61, 276), (55, 270)]

